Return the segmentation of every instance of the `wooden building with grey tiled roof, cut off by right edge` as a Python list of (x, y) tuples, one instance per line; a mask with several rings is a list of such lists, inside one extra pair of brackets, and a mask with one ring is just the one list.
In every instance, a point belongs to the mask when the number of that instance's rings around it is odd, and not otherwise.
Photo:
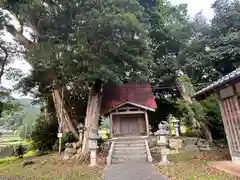
[(219, 100), (232, 161), (240, 164), (240, 68), (197, 92), (195, 97), (204, 99), (212, 93)]

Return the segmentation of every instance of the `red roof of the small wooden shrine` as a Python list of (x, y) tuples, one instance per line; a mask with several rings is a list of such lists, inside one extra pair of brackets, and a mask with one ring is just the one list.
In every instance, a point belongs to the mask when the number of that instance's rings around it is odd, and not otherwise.
[(152, 109), (157, 108), (152, 87), (147, 84), (104, 85), (101, 111), (106, 113), (125, 102), (132, 102)]

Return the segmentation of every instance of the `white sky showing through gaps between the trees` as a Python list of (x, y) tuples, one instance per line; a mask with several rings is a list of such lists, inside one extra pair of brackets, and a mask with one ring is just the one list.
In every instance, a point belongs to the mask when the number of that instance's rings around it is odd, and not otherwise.
[[(198, 0), (198, 1), (195, 1), (195, 0), (171, 0), (171, 2), (173, 4), (180, 4), (180, 3), (188, 4), (188, 11), (191, 16), (194, 16), (198, 12), (202, 11), (203, 15), (207, 19), (212, 19), (212, 17), (213, 17), (213, 11), (211, 9), (211, 5), (213, 4), (214, 1), (215, 0)], [(12, 41), (12, 37), (9, 34), (7, 34), (5, 36), (5, 39), (7, 41)], [(22, 69), (22, 71), (25, 72), (26, 74), (31, 69), (30, 65), (27, 64), (26, 62), (24, 62), (23, 58), (21, 58), (21, 57), (17, 58), (16, 61), (11, 66)], [(3, 82), (3, 86), (5, 86), (7, 88), (12, 88), (12, 86), (16, 83), (16, 82), (6, 80), (5, 78), (3, 78), (2, 82)], [(16, 98), (22, 97), (19, 93), (13, 93), (13, 96)]]

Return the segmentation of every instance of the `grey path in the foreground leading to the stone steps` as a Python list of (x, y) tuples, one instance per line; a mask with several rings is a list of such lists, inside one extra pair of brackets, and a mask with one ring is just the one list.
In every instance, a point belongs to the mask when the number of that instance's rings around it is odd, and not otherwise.
[(144, 162), (113, 164), (105, 172), (103, 180), (168, 180), (157, 169)]

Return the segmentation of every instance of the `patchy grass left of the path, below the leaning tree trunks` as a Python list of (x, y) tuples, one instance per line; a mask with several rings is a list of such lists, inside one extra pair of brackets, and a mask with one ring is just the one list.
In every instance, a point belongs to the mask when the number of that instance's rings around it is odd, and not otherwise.
[(0, 177), (18, 177), (15, 180), (100, 180), (102, 168), (67, 164), (57, 154), (33, 158), (33, 165), (22, 166), (22, 160), (0, 164)]

